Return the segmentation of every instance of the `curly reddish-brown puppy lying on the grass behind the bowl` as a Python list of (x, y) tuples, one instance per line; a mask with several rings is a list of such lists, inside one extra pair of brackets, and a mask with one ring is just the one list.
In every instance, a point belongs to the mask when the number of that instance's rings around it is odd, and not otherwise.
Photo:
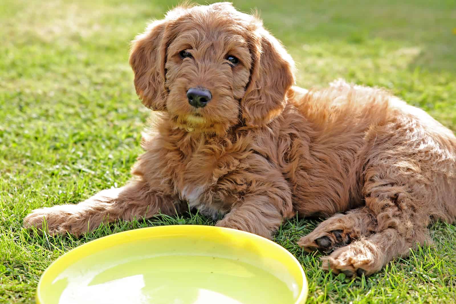
[(324, 217), (298, 244), (322, 267), (370, 275), (456, 219), (456, 137), (379, 88), (294, 86), (294, 63), (255, 15), (178, 6), (133, 41), (142, 103), (158, 118), (124, 187), (34, 210), (25, 227), (79, 236), (101, 223), (198, 208), (271, 238)]

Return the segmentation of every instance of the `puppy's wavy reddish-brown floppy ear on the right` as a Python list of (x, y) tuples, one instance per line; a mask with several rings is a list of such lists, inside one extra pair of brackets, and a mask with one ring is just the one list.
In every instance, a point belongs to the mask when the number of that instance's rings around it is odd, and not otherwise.
[(262, 126), (283, 111), (286, 92), (295, 82), (294, 63), (280, 42), (263, 27), (254, 34), (250, 44), (253, 67), (241, 109), (248, 126)]

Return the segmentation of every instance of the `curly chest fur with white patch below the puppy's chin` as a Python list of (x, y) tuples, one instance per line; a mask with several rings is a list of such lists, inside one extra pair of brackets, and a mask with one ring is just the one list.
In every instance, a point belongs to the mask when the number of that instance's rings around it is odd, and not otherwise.
[(145, 148), (155, 155), (152, 159), (159, 160), (157, 170), (170, 190), (215, 219), (240, 200), (246, 187), (238, 177), (245, 167), (243, 158), (251, 153), (246, 142), (229, 136), (195, 138), (172, 130), (155, 137), (152, 149)]

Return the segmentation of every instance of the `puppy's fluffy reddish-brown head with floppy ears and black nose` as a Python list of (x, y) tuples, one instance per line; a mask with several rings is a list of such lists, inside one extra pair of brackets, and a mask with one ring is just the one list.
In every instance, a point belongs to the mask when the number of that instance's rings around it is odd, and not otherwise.
[(264, 125), (294, 82), (280, 42), (230, 3), (169, 11), (135, 38), (130, 65), (143, 104), (194, 132)]

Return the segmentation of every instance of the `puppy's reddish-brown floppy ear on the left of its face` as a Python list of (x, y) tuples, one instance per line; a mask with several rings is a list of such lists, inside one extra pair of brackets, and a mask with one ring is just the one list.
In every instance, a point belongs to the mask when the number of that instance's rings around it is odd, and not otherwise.
[(136, 36), (130, 51), (130, 66), (135, 74), (136, 94), (142, 103), (154, 110), (166, 110), (164, 40), (168, 20), (152, 22), (143, 34)]

